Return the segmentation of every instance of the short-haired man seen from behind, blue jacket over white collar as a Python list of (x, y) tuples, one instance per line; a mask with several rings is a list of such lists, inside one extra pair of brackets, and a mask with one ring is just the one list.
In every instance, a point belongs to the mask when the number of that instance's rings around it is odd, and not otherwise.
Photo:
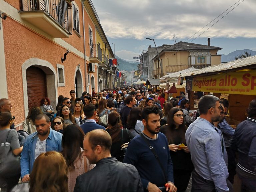
[(82, 124), (80, 127), (82, 128), (84, 134), (94, 130), (94, 129), (104, 129), (105, 127), (98, 125), (95, 121), (95, 105), (89, 103), (88, 105), (84, 106), (84, 115), (86, 116), (87, 120), (84, 124)]

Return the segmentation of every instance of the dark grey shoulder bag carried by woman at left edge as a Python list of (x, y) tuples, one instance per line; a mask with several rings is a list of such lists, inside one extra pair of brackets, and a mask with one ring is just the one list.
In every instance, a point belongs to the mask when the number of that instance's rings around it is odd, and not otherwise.
[(7, 139), (11, 130), (8, 131), (6, 141), (0, 143), (0, 173), (1, 175), (18, 175), (20, 169), (20, 156), (13, 154), (11, 144), (7, 144)]

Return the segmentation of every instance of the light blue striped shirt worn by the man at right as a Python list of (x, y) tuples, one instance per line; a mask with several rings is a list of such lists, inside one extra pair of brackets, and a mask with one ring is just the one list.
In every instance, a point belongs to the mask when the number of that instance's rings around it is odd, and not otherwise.
[(222, 150), (220, 136), (213, 124), (200, 117), (185, 134), (195, 171), (204, 179), (213, 181), (218, 192), (224, 192), (229, 191), (226, 182), (229, 174), (223, 158), (226, 150)]

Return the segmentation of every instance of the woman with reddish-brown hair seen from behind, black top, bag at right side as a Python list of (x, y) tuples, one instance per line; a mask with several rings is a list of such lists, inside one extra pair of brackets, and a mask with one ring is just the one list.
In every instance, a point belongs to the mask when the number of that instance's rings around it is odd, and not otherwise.
[(120, 115), (117, 112), (113, 111), (108, 115), (108, 127), (106, 131), (112, 138), (111, 156), (123, 162), (124, 156), (120, 153), (120, 147), (122, 144), (130, 142), (133, 135), (128, 129), (122, 129)]

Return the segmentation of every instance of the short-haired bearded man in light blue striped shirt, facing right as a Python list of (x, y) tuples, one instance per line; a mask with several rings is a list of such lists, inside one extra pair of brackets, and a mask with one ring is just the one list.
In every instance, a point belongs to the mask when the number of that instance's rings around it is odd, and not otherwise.
[[(221, 132), (213, 122), (220, 120), (222, 107), (213, 95), (201, 97), (200, 117), (188, 127), (185, 137), (194, 165), (191, 192), (230, 191), (227, 186), (228, 169)], [(221, 139), (220, 139), (221, 137)]]

